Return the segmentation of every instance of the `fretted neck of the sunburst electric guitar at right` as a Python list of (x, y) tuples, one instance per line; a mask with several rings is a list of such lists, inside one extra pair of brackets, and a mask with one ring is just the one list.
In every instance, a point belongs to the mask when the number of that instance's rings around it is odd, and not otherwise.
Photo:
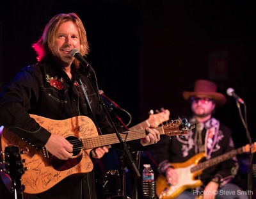
[(211, 166), (214, 166), (216, 164), (222, 163), (223, 161), (226, 161), (227, 159), (231, 159), (232, 157), (243, 154), (244, 153), (244, 147), (240, 147), (237, 149), (234, 149), (230, 152), (227, 152), (225, 154), (222, 154), (218, 157), (214, 157), (212, 159), (209, 159), (208, 161), (204, 161), (202, 163), (199, 163), (198, 165), (191, 168), (191, 173), (194, 173), (199, 170), (205, 170), (206, 168), (209, 168)]

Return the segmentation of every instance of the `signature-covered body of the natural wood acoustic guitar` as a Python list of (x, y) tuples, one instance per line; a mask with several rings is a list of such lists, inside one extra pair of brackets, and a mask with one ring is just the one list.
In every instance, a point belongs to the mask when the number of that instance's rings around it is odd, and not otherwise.
[(8, 145), (16, 145), (24, 151), (21, 155), (22, 159), (25, 159), (24, 167), (27, 168), (21, 178), (25, 186), (24, 193), (42, 193), (70, 175), (92, 171), (93, 163), (89, 156), (92, 149), (84, 150), (80, 139), (99, 136), (90, 118), (76, 116), (67, 120), (51, 120), (37, 115), (31, 117), (52, 134), (63, 136), (70, 143), (76, 142), (76, 145), (81, 147), (80, 150), (74, 151), (72, 158), (63, 161), (51, 155), (45, 148), (36, 151), (4, 127), (2, 133), (0, 132), (1, 150), (4, 151)]

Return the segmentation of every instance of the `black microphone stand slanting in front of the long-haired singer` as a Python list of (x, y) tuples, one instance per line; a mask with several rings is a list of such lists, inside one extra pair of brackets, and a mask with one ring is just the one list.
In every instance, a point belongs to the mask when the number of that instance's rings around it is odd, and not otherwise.
[[(139, 178), (141, 177), (140, 171), (139, 171), (138, 168), (136, 167), (135, 161), (134, 161), (134, 159), (133, 159), (133, 157), (132, 157), (132, 154), (131, 154), (129, 148), (127, 147), (127, 144), (122, 140), (122, 138), (121, 138), (119, 132), (117, 131), (117, 129), (116, 129), (116, 127), (115, 127), (115, 124), (114, 124), (114, 122), (113, 122), (111, 116), (109, 115), (108, 109), (106, 108), (106, 104), (104, 103), (104, 101), (103, 101), (102, 98), (100, 97), (100, 94), (99, 94), (99, 87), (98, 87), (98, 84), (97, 84), (97, 77), (96, 77), (96, 74), (95, 74), (94, 70), (93, 70), (93, 73), (92, 73), (92, 74), (94, 74), (95, 83), (93, 83), (93, 81), (92, 81), (91, 72), (90, 72), (90, 70), (88, 70), (88, 65), (90, 65), (90, 64), (88, 63), (86, 66), (84, 66), (83, 63), (82, 63), (83, 68), (81, 68), (81, 70), (83, 71), (84, 75), (86, 76), (86, 74), (87, 74), (88, 78), (90, 79), (90, 82), (92, 83), (92, 86), (93, 86), (93, 88), (94, 88), (94, 90), (95, 90), (95, 92), (96, 92), (96, 94), (97, 94), (97, 96), (98, 96), (99, 102), (100, 102), (100, 104), (101, 104), (102, 107), (103, 107), (103, 111), (105, 112), (108, 121), (111, 123), (111, 126), (112, 126), (113, 129), (114, 129), (114, 131), (115, 131), (115, 133), (116, 133), (116, 137), (117, 137), (117, 138), (119, 139), (119, 141), (120, 141), (121, 148), (124, 150), (124, 157), (125, 157), (125, 154), (126, 154), (126, 155), (127, 155), (127, 161), (128, 161), (128, 163), (130, 164), (130, 166), (131, 166), (131, 168), (132, 168), (132, 171), (133, 171), (134, 174), (136, 175), (137, 179), (139, 179)], [(92, 68), (91, 65), (90, 65), (90, 68)], [(86, 90), (83, 88), (83, 84), (81, 84), (81, 86), (82, 86), (82, 90), (83, 90), (83, 93), (84, 93), (84, 97), (85, 97), (86, 99), (88, 99), (88, 96), (87, 96), (87, 94), (86, 94)], [(89, 104), (89, 106), (90, 106), (90, 104)], [(124, 171), (124, 172), (125, 172), (125, 171)], [(120, 195), (120, 196), (121, 196), (122, 198), (124, 198), (124, 199), (127, 199), (127, 193), (125, 192), (125, 190), (126, 190), (126, 189), (123, 188), (123, 195), (122, 195), (122, 196)]]

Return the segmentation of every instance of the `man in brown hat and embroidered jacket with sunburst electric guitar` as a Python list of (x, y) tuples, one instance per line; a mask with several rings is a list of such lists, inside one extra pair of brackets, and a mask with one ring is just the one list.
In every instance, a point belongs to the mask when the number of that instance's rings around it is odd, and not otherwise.
[[(221, 107), (226, 102), (225, 95), (216, 91), (217, 86), (212, 81), (195, 81), (193, 92), (184, 91), (182, 95), (191, 103), (192, 114), (189, 115), (188, 122), (196, 127), (183, 137), (163, 137), (152, 148), (152, 157), (159, 164), (161, 174), (156, 183), (159, 198), (165, 196), (186, 199), (199, 195), (204, 196), (204, 199), (248, 198), (247, 195), (240, 194), (245, 191), (232, 184), (239, 167), (236, 156), (232, 155), (233, 157), (217, 163), (211, 161), (214, 157), (234, 150), (230, 129), (212, 117), (216, 107)], [(211, 165), (206, 162), (207, 164), (193, 170), (193, 166), (199, 161), (208, 161)], [(161, 184), (164, 186), (161, 187)], [(170, 186), (165, 186), (166, 184)]]

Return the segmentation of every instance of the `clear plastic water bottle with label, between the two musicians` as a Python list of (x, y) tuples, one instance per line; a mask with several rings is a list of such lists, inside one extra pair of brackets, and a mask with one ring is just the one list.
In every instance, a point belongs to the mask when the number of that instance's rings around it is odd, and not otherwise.
[(150, 164), (143, 164), (141, 190), (144, 198), (155, 198), (156, 182), (154, 181), (154, 170)]

